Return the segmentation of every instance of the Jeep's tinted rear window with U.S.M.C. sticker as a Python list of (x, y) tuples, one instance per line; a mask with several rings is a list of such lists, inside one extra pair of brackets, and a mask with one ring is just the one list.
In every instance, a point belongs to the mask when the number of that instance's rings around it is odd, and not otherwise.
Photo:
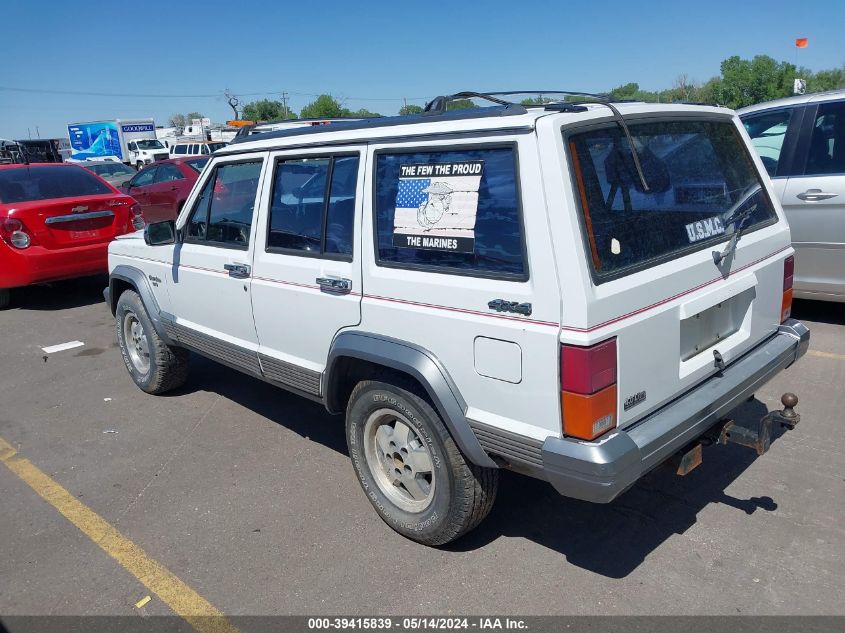
[(647, 189), (618, 125), (565, 137), (598, 283), (724, 242), (739, 214), (743, 234), (775, 221), (732, 122), (628, 126)]

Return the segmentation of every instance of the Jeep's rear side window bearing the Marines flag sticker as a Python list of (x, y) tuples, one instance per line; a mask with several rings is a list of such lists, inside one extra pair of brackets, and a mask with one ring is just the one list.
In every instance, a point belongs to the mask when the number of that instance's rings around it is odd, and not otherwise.
[(525, 278), (515, 151), (377, 153), (379, 264)]

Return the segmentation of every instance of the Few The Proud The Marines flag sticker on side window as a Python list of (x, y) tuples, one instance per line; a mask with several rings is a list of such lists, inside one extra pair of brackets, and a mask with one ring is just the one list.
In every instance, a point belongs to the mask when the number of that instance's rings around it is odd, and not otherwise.
[(472, 253), (484, 162), (402, 165), (393, 217), (399, 248)]

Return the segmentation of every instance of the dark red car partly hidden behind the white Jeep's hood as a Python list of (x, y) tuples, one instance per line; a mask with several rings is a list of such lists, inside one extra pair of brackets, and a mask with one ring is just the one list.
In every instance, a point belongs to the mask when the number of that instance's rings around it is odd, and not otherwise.
[(207, 162), (208, 156), (156, 161), (121, 189), (141, 205), (147, 224), (175, 220)]

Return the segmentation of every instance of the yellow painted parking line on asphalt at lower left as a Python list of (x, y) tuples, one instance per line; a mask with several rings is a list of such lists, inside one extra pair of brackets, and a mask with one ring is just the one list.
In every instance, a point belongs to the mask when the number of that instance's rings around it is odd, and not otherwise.
[(0, 461), (200, 633), (239, 633), (210, 602), (0, 437)]

